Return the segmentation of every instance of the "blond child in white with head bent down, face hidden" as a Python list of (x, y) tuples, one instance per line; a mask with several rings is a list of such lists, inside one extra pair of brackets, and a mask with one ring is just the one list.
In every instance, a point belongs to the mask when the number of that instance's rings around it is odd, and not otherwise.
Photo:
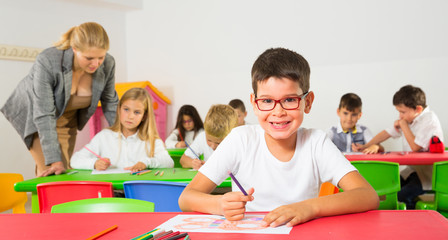
[[(199, 169), (237, 125), (238, 115), (231, 106), (224, 104), (211, 106), (204, 121), (205, 132), (201, 132), (185, 150), (180, 158), (182, 167)], [(204, 154), (204, 161), (199, 159), (202, 154)]]

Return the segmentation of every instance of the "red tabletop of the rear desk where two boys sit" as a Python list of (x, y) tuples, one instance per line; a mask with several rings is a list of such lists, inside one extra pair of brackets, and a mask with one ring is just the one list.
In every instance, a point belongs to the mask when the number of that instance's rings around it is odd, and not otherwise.
[(448, 152), (389, 152), (387, 154), (346, 154), (349, 161), (385, 161), (400, 165), (432, 165), (435, 162), (448, 161)]

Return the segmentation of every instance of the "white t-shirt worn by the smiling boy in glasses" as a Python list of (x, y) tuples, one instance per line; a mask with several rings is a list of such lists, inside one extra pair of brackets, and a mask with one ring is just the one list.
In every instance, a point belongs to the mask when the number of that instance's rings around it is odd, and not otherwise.
[[(318, 197), (323, 182), (337, 186), (344, 175), (356, 171), (323, 131), (300, 128), (288, 162), (271, 154), (264, 135), (260, 125), (234, 128), (199, 169), (216, 185), (232, 172), (244, 189), (253, 187), (254, 201), (247, 203), (247, 211), (271, 211)], [(235, 184), (232, 190), (240, 191)]]

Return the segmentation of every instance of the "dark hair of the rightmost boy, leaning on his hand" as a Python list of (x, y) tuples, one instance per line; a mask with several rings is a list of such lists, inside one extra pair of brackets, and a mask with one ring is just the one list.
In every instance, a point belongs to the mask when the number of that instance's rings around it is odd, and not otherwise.
[(426, 97), (423, 90), (419, 87), (406, 85), (394, 94), (392, 100), (394, 106), (403, 104), (408, 108), (416, 109), (418, 105), (426, 108)]

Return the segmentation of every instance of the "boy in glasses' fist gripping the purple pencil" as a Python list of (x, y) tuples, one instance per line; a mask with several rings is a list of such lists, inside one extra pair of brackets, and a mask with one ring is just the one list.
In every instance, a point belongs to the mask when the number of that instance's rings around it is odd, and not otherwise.
[(247, 196), (242, 192), (228, 192), (220, 199), (221, 212), (229, 221), (241, 220), (246, 212), (246, 203), (254, 200), (254, 188), (249, 188)]

